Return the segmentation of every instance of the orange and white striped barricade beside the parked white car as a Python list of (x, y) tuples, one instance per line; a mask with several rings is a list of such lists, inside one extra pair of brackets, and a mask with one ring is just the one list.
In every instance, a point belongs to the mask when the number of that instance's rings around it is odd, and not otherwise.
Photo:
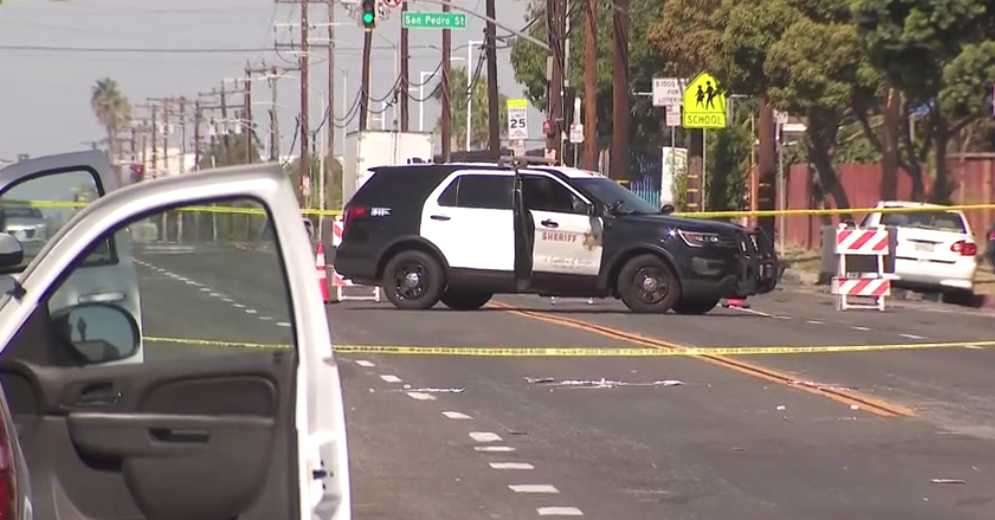
[[(836, 295), (836, 310), (885, 309), (885, 297), (891, 296), (891, 280), (884, 273), (891, 254), (891, 234), (886, 229), (853, 229), (840, 225), (836, 230), (836, 255), (839, 267), (833, 278), (832, 293)], [(847, 256), (876, 256), (872, 272), (852, 272), (847, 268)], [(873, 303), (855, 302), (852, 298), (870, 298)]]

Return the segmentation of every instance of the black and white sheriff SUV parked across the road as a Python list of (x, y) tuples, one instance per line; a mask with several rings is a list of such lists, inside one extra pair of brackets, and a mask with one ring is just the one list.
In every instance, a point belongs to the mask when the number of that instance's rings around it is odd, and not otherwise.
[(704, 314), (777, 284), (760, 230), (671, 216), (600, 173), (521, 163), (371, 171), (343, 211), (335, 270), (382, 286), (400, 309), (538, 294)]

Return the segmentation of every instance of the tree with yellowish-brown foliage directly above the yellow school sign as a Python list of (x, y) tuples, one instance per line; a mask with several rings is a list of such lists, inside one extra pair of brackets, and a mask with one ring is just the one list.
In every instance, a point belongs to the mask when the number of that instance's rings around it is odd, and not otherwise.
[(675, 72), (708, 67), (727, 92), (805, 116), (817, 185), (837, 207), (850, 206), (836, 171), (839, 129), (878, 81), (846, 0), (666, 2), (649, 41)]

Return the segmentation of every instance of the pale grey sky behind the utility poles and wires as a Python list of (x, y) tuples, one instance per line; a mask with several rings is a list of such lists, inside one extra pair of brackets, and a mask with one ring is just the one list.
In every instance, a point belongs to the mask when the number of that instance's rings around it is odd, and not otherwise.
[[(341, 0), (339, 0), (341, 1)], [(484, 0), (456, 0), (468, 9), (484, 12)], [(522, 27), (528, 0), (498, 0), (499, 21)], [(411, 10), (437, 11), (435, 4), (412, 0)], [(325, 20), (325, 6), (311, 8), (312, 23)], [(389, 20), (379, 22), (373, 52), (372, 95), (383, 97), (394, 84), (394, 56), (400, 35), (400, 10), (392, 10)], [(272, 0), (6, 0), (0, 7), (0, 60), (5, 71), (0, 82), (0, 159), (17, 154), (32, 156), (89, 148), (88, 141), (99, 140), (104, 132), (90, 109), (90, 93), (98, 78), (116, 79), (134, 103), (148, 97), (187, 96), (209, 92), (221, 86), (222, 78), (242, 77), (246, 61), (258, 65), (292, 65), (294, 56), (270, 49), (274, 41), (300, 41), (296, 28), (276, 28), (274, 24), (296, 23), (299, 8), (275, 4)], [(359, 89), (362, 30), (355, 17), (339, 5), (336, 21), (338, 40), (335, 112), (341, 117), (344, 87), (346, 104), (351, 105)], [(498, 30), (498, 34), (504, 31)], [(411, 80), (419, 81), (421, 71), (435, 70), (441, 53), (423, 48), (441, 44), (440, 31), (412, 30)], [(327, 38), (324, 28), (312, 31), (312, 38)], [(453, 55), (466, 60), (467, 42), (483, 37), (483, 23), (470, 18), (465, 30), (453, 31)], [(45, 51), (23, 47), (64, 47)], [(21, 48), (19, 48), (21, 47)], [(80, 51), (80, 48), (110, 48), (115, 52)], [(127, 49), (256, 49), (248, 52), (198, 54), (125, 52)], [(317, 54), (324, 49), (313, 49)], [(510, 51), (498, 51), (498, 77), (502, 93), (522, 97), (522, 87), (514, 81), (508, 61)], [(479, 53), (475, 53), (477, 59)], [(323, 59), (323, 58), (321, 58)], [(286, 61), (285, 61), (286, 60)], [(314, 60), (317, 62), (318, 60)], [(327, 85), (327, 65), (312, 64), (311, 119), (320, 121), (320, 89)], [(346, 85), (347, 84), (347, 85)], [(427, 89), (427, 90), (430, 90)], [(268, 100), (264, 82), (254, 84), (254, 98)], [(417, 96), (417, 93), (414, 93)], [(297, 82), (279, 82), (281, 141), (289, 152), (294, 116), (298, 112)], [(235, 103), (241, 103), (236, 97)], [(267, 130), (265, 106), (256, 106), (261, 131)], [(411, 125), (417, 130), (418, 103), (411, 104)], [(431, 130), (439, 107), (425, 106), (425, 127)], [(392, 117), (388, 115), (388, 127)], [(531, 114), (533, 136), (539, 133), (540, 117)], [(353, 120), (349, 129), (356, 128)], [(377, 127), (374, 123), (374, 127)], [(339, 130), (341, 132), (341, 130)], [(338, 147), (338, 145), (337, 145)]]

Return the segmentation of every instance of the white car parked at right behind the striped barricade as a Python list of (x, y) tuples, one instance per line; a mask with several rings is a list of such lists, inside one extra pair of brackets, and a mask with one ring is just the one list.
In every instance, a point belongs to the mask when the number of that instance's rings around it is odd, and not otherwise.
[(963, 212), (937, 204), (905, 201), (878, 202), (876, 207), (913, 210), (869, 213), (860, 224), (897, 229), (892, 278), (895, 286), (943, 293), (973, 291), (978, 246)]

